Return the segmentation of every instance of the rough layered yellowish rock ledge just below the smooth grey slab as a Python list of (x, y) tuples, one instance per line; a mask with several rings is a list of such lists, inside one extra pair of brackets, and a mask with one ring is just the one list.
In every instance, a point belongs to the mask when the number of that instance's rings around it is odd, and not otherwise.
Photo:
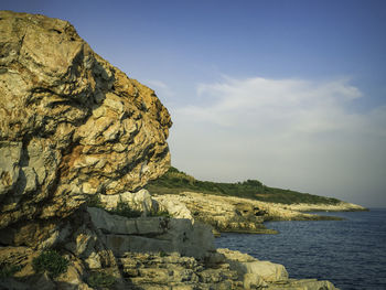
[(176, 253), (162, 256), (127, 253), (119, 264), (127, 279), (139, 289), (243, 289), (236, 272), (226, 265), (212, 269)]

